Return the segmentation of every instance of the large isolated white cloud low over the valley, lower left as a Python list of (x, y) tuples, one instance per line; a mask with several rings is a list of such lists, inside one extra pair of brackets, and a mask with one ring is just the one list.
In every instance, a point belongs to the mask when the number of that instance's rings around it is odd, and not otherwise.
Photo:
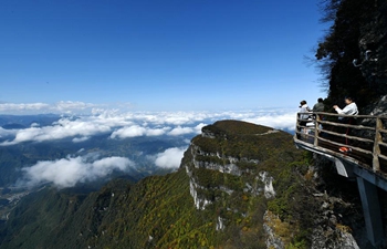
[(23, 184), (31, 187), (42, 183), (53, 183), (60, 188), (73, 187), (77, 183), (107, 176), (115, 169), (125, 172), (134, 166), (134, 163), (125, 157), (107, 157), (94, 162), (87, 159), (87, 156), (79, 156), (38, 162), (31, 167), (22, 168)]

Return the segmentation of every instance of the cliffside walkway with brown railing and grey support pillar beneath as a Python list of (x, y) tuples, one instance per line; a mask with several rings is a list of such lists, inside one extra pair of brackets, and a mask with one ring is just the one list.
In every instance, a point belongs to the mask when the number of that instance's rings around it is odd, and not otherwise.
[(305, 123), (304, 114), (296, 117), (295, 145), (334, 162), (339, 175), (356, 178), (368, 239), (380, 247), (386, 238), (377, 187), (387, 191), (387, 116), (316, 112)]

